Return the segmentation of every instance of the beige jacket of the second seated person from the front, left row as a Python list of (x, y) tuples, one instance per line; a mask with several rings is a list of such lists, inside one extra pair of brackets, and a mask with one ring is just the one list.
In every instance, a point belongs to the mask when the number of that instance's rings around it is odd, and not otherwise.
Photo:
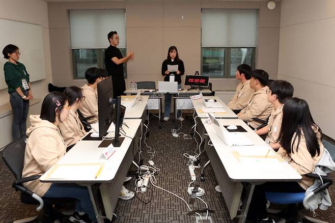
[(81, 124), (78, 113), (70, 109), (70, 114), (65, 122), (59, 125), (63, 140), (67, 146), (78, 143), (86, 131)]

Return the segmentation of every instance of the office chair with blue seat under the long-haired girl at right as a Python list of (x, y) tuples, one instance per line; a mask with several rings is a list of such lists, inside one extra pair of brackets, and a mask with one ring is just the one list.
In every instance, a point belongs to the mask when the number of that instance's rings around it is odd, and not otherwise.
[[(331, 155), (332, 160), (335, 160), (335, 140), (330, 138), (329, 136), (322, 134), (322, 144), (328, 150)], [(306, 174), (312, 179), (320, 179), (317, 174)], [(321, 176), (323, 180), (323, 185), (320, 184), (318, 188), (313, 190), (313, 193), (309, 194), (305, 197), (305, 193), (289, 193), (289, 192), (266, 192), (266, 199), (274, 204), (289, 204), (287, 217), (289, 221), (293, 222), (304, 222), (304, 220), (308, 220), (310, 222), (319, 223), (320, 220), (304, 216), (301, 212), (299, 212), (299, 204), (303, 204), (305, 209), (309, 209), (306, 202), (313, 197), (315, 194), (320, 193), (321, 191), (327, 189), (333, 182), (328, 176)]]

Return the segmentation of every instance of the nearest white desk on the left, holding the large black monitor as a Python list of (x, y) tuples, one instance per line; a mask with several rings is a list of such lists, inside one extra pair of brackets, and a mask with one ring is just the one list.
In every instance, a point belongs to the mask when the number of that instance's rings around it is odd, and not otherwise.
[[(129, 128), (123, 128), (127, 136), (135, 138), (137, 135), (141, 119), (126, 119), (124, 121)], [(121, 134), (122, 135), (122, 134)], [(114, 133), (108, 133), (107, 136), (113, 137)], [(102, 183), (100, 185), (103, 206), (105, 207), (106, 216), (111, 219), (114, 208), (119, 198), (120, 190), (123, 185), (124, 178), (129, 170), (130, 164), (134, 159), (134, 153), (137, 152), (137, 140), (125, 137), (120, 148), (108, 160), (102, 154), (105, 148), (98, 148), (101, 141), (79, 141), (69, 152), (67, 152), (56, 164), (54, 164), (40, 178), (41, 182), (51, 183), (77, 183), (88, 186), (91, 201), (96, 216), (102, 215), (102, 207), (97, 202), (97, 194), (92, 188), (92, 184)], [(134, 150), (134, 151), (133, 151)], [(49, 174), (54, 170), (55, 165), (67, 165), (75, 163), (103, 163), (103, 168), (98, 177), (92, 176), (85, 179), (69, 179), (68, 174), (64, 173), (64, 179), (48, 179)], [(62, 174), (62, 173), (61, 173)], [(101, 218), (97, 218), (98, 222), (103, 222)]]

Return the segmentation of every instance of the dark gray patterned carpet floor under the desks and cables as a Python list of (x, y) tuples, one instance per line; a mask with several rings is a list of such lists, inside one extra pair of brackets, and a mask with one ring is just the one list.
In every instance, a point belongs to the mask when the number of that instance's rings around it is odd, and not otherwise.
[[(186, 166), (187, 158), (183, 157), (183, 153), (193, 154), (197, 144), (194, 139), (184, 140), (182, 135), (179, 138), (173, 137), (171, 129), (176, 128), (176, 124), (177, 127), (179, 127), (180, 121), (177, 121), (177, 123), (172, 122), (172, 120), (162, 122), (162, 128), (159, 129), (158, 119), (150, 117), (149, 134), (146, 142), (148, 146), (156, 150), (153, 161), (155, 165), (161, 169), (160, 172), (155, 174), (157, 179), (156, 185), (178, 194), (178, 196), (188, 202), (189, 196), (186, 190), (190, 182), (190, 177)], [(180, 131), (190, 134), (192, 125), (193, 122), (191, 118), (188, 118), (183, 122), (183, 127)], [(198, 141), (200, 140), (198, 137), (197, 139)], [(142, 144), (142, 150), (143, 160), (147, 163), (150, 155), (147, 153), (148, 149), (144, 144)], [(2, 155), (2, 153), (0, 153), (0, 155)], [(206, 153), (202, 154), (200, 160), (201, 164), (203, 165), (207, 160)], [(0, 160), (0, 170), (0, 177), (2, 179), (0, 181), (0, 222), (12, 222), (16, 219), (37, 215), (35, 206), (21, 204), (19, 193), (11, 187), (14, 177), (2, 159)], [(135, 186), (135, 171), (135, 166), (132, 165), (128, 175), (133, 178), (125, 184), (125, 186), (131, 190), (134, 190)], [(214, 190), (217, 182), (211, 165), (208, 165), (205, 173), (206, 180), (205, 182), (201, 182), (199, 178), (200, 169), (196, 169), (196, 183), (205, 190), (205, 194), (201, 198), (207, 202), (209, 209), (215, 211), (215, 213), (210, 213), (213, 222), (235, 222), (235, 220), (230, 219), (223, 197)], [(335, 179), (334, 174), (330, 176), (332, 179)], [(151, 199), (149, 204), (144, 204), (136, 198), (128, 201), (119, 199), (115, 211), (118, 215), (118, 222), (196, 222), (197, 215), (188, 215), (189, 210), (180, 199), (170, 193), (154, 188), (151, 184), (149, 184), (149, 187), (153, 191), (148, 189), (145, 193), (137, 194), (138, 198), (145, 202)], [(331, 198), (335, 198), (334, 186), (330, 187), (329, 193)], [(196, 200), (190, 207), (192, 209), (204, 209), (205, 204), (200, 200)], [(271, 207), (277, 208), (283, 206), (271, 205)], [(309, 216), (313, 215), (309, 211), (304, 211), (304, 213)], [(335, 207), (332, 206), (327, 211), (318, 210), (316, 213), (318, 219), (333, 222)], [(205, 214), (206, 213), (203, 213), (203, 215)], [(277, 219), (277, 216), (271, 215), (271, 217)]]

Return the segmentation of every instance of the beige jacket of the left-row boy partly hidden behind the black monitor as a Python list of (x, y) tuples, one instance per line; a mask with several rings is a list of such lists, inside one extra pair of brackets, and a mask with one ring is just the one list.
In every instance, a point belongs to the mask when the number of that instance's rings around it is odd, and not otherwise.
[(95, 123), (98, 121), (98, 98), (96, 91), (87, 84), (82, 86), (82, 95), (85, 96), (85, 100), (82, 102), (79, 110), (85, 117), (95, 116), (92, 119), (87, 120), (89, 123)]

